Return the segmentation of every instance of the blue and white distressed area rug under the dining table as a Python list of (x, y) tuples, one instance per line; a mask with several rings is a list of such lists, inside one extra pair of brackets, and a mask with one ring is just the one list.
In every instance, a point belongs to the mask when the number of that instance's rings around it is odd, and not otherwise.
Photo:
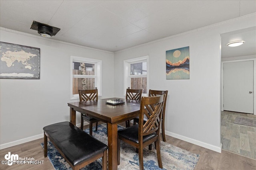
[[(124, 127), (118, 126), (118, 129)], [(89, 133), (89, 129), (84, 130)], [(92, 135), (108, 145), (106, 123), (98, 125), (98, 131), (95, 131), (95, 126)], [(44, 143), (41, 143), (44, 148)], [(135, 152), (135, 148), (121, 141), (121, 158), (118, 170), (139, 170), (139, 157)], [(55, 170), (72, 170), (70, 165), (61, 156), (54, 145), (48, 141), (48, 158)], [(161, 141), (161, 158), (163, 170), (193, 170), (199, 159), (199, 154), (194, 154), (184, 149), (180, 149), (168, 143)], [(148, 147), (143, 150), (143, 163), (145, 170), (160, 170), (156, 156), (154, 144), (152, 150)], [(81, 170), (99, 170), (102, 169), (102, 160), (98, 159)]]

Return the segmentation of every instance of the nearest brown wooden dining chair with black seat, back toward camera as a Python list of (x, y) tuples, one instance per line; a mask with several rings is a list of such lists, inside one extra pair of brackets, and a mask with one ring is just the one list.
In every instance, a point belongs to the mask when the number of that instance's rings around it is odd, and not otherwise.
[[(164, 98), (165, 94), (142, 97), (139, 124), (118, 131), (118, 165), (120, 164), (120, 141), (122, 140), (138, 149), (140, 170), (143, 170), (143, 148), (155, 143), (158, 165), (163, 168), (160, 153), (160, 124)], [(148, 118), (146, 122), (143, 120), (144, 115)]]

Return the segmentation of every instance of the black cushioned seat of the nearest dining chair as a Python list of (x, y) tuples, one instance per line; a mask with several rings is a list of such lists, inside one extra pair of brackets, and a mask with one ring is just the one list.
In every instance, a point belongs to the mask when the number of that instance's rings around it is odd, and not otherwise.
[[(134, 141), (135, 143), (139, 143), (138, 139), (138, 131), (139, 131), (139, 125), (136, 124), (134, 126), (130, 126), (124, 129), (121, 129), (118, 131), (118, 135), (124, 137), (125, 139), (128, 139), (130, 141)], [(156, 137), (156, 133), (152, 133), (150, 135), (146, 135), (143, 137), (143, 143)]]

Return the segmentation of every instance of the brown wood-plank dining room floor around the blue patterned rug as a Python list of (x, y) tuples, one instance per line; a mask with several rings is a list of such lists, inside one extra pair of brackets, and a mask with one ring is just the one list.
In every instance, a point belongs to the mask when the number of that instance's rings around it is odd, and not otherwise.
[[(99, 122), (100, 123), (100, 122)], [(125, 126), (125, 122), (121, 124)], [(86, 125), (84, 128), (88, 128)], [(0, 150), (0, 160), (5, 160), (4, 155), (11, 152), (11, 154), (18, 154), (19, 157), (24, 158), (34, 158), (35, 160), (43, 160), (43, 164), (13, 164), (12, 166), (0, 164), (1, 170), (54, 170), (49, 159), (44, 158), (44, 150), (42, 149), (40, 143), (43, 142), (42, 139), (37, 139), (28, 143), (17, 145), (14, 147), (6, 148)], [(166, 135), (166, 142), (170, 143), (176, 147), (188, 150), (190, 152), (200, 154), (198, 163), (196, 164), (195, 170), (255, 170), (256, 169), (256, 160), (246, 158), (244, 156), (222, 150), (222, 153), (214, 152), (212, 150), (194, 145), (170, 137)], [(41, 161), (42, 162), (42, 161)]]

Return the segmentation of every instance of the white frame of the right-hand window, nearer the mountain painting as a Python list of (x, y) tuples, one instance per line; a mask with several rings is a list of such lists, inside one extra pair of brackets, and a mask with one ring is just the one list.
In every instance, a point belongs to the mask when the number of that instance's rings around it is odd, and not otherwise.
[[(138, 75), (130, 75), (130, 64), (134, 64), (134, 63), (140, 63), (140, 62), (147, 62), (147, 74), (138, 74)], [(148, 55), (143, 56), (143, 57), (137, 57), (134, 59), (128, 59), (128, 60), (124, 60), (124, 96), (126, 96), (126, 89), (128, 87), (130, 87), (131, 85), (131, 79), (130, 78), (136, 78), (136, 77), (146, 77), (147, 78), (147, 91), (148, 91), (148, 82), (149, 82), (149, 78), (148, 78)], [(142, 94), (142, 96), (147, 96), (147, 94)]]

